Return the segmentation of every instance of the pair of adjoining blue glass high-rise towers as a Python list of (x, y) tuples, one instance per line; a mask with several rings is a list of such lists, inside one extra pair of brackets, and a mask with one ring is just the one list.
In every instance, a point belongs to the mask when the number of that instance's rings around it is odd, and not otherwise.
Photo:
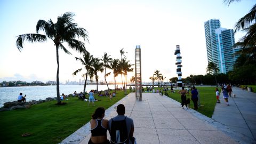
[[(214, 62), (220, 69), (220, 73), (228, 73), (233, 70), (233, 65), (237, 59), (233, 45), (235, 37), (233, 29), (220, 27), (219, 19), (211, 19), (204, 22), (205, 39), (207, 49), (207, 59)], [(213, 74), (213, 71), (210, 71)]]

